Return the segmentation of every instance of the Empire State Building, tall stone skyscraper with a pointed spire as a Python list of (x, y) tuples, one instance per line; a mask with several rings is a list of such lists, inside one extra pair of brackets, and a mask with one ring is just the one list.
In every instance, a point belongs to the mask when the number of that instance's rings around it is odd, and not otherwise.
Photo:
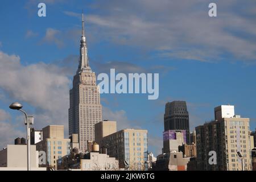
[(69, 135), (78, 134), (80, 150), (86, 152), (87, 141), (94, 140), (94, 125), (102, 121), (102, 111), (96, 74), (89, 67), (84, 14), (80, 43), (79, 68), (73, 77), (73, 88), (69, 91), (68, 124)]

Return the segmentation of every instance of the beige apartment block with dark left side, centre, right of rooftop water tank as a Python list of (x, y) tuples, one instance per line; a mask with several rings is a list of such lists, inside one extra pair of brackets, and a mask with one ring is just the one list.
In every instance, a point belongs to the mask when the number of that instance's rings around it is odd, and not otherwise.
[(147, 130), (124, 129), (101, 139), (110, 157), (119, 160), (119, 168), (125, 168), (126, 161), (130, 170), (148, 168)]

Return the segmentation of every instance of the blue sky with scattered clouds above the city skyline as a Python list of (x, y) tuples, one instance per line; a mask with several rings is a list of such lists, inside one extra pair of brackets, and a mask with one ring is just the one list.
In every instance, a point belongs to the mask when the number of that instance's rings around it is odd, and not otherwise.
[[(46, 3), (46, 17), (38, 3)], [(0, 3), (0, 147), (24, 137), (24, 116), (34, 127), (64, 125), (69, 89), (79, 64), (81, 12), (93, 71), (159, 73), (159, 98), (101, 94), (103, 119), (118, 130), (147, 129), (154, 155), (163, 147), (166, 102), (184, 100), (190, 130), (214, 118), (214, 107), (234, 105), (256, 127), (256, 2), (214, 1), (7, 1)]]

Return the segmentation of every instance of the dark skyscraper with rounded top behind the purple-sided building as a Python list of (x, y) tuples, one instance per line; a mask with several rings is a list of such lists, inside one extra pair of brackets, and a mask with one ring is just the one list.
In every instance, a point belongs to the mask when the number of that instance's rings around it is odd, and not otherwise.
[(186, 130), (187, 143), (189, 142), (189, 116), (185, 101), (173, 101), (166, 103), (164, 113), (164, 131)]

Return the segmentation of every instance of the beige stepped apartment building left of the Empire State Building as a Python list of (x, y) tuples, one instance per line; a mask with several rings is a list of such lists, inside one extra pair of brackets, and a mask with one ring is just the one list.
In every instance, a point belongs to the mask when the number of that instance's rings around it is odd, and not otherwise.
[(64, 126), (49, 125), (43, 128), (43, 140), (36, 143), (38, 151), (46, 152), (46, 162), (57, 168), (57, 159), (70, 154), (70, 139), (64, 138)]

